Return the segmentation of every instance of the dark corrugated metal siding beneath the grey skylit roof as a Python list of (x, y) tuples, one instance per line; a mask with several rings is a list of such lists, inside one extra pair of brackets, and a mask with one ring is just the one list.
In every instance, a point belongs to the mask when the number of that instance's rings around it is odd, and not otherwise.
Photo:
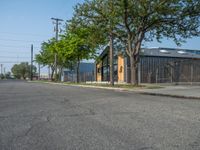
[(140, 64), (141, 83), (200, 82), (200, 60), (143, 56)]

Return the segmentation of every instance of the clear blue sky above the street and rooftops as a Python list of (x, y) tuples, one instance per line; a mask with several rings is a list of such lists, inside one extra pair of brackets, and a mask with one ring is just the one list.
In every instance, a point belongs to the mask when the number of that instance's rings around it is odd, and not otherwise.
[[(30, 62), (30, 47), (40, 50), (42, 41), (55, 36), (51, 17), (68, 20), (73, 6), (84, 0), (0, 0), (0, 64), (9, 71), (13, 63)], [(64, 23), (63, 23), (64, 25)], [(181, 48), (199, 49), (200, 38), (192, 38)], [(145, 47), (175, 47), (171, 40), (146, 43)], [(45, 69), (44, 69), (45, 72)]]

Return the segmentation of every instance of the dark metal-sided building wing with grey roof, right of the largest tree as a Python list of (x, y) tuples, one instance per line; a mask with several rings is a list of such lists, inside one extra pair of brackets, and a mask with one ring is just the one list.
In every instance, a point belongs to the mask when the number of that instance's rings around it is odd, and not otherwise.
[(141, 83), (200, 82), (200, 51), (142, 49), (138, 78)]

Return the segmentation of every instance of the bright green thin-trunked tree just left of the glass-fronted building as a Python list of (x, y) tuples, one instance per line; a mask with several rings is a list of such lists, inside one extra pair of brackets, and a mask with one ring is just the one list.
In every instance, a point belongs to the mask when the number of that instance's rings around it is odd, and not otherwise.
[(65, 57), (70, 63), (76, 64), (77, 82), (80, 81), (80, 62), (84, 59), (91, 59), (95, 56), (93, 43), (88, 40), (90, 32), (87, 28), (71, 28), (62, 37), (65, 45)]

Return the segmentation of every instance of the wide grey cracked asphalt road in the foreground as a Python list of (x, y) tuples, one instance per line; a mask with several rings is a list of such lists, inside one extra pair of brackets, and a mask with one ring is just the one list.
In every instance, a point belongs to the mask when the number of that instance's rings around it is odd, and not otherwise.
[(0, 81), (0, 150), (199, 150), (200, 101)]

